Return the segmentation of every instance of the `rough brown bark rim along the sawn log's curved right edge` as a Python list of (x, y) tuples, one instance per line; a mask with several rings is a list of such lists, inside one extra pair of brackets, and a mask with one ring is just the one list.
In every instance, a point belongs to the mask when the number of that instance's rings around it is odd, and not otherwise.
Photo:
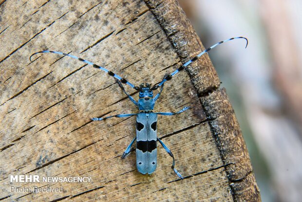
[[(204, 50), (176, 0), (145, 0), (179, 57), (185, 61)], [(177, 23), (176, 23), (177, 22)], [(202, 67), (201, 69), (198, 66)], [(188, 67), (224, 162), (234, 201), (261, 201), (248, 151), (226, 90), (208, 55)]]

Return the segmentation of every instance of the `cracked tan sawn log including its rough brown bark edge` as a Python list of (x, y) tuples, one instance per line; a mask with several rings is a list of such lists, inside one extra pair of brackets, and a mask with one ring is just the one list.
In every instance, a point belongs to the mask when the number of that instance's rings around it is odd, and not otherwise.
[[(0, 3), (0, 200), (5, 201), (261, 201), (245, 141), (226, 91), (204, 55), (165, 83), (158, 117), (158, 164), (136, 170), (138, 112), (104, 66), (135, 85), (155, 84), (204, 50), (175, 0), (3, 0)], [(138, 98), (135, 90), (126, 90)], [(91, 177), (91, 182), (10, 182), (10, 175)], [(14, 192), (11, 187), (63, 188)]]

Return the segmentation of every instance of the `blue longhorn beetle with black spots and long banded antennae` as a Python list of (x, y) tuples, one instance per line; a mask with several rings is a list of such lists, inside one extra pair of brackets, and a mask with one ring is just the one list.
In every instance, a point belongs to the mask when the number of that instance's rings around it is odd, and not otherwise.
[[(30, 56), (29, 60), (32, 62), (31, 58), (32, 56), (38, 54), (38, 53), (55, 53), (59, 55), (64, 55), (71, 57), (73, 59), (83, 61), (87, 64), (93, 65), (94, 68), (103, 70), (107, 72), (110, 76), (114, 77), (122, 91), (128, 96), (128, 98), (138, 107), (139, 113), (136, 114), (117, 114), (105, 118), (92, 118), (93, 121), (103, 121), (112, 117), (130, 117), (130, 116), (136, 116), (136, 137), (133, 138), (127, 149), (122, 155), (122, 159), (125, 159), (131, 152), (131, 147), (134, 141), (136, 140), (136, 167), (137, 170), (142, 173), (142, 174), (151, 174), (155, 171), (156, 169), (156, 164), (157, 164), (157, 146), (156, 142), (159, 141), (159, 143), (165, 148), (165, 150), (168, 152), (168, 154), (173, 158), (172, 166), (171, 168), (174, 170), (174, 172), (177, 174), (177, 176), (181, 179), (183, 179), (182, 175), (175, 169), (175, 160), (172, 152), (170, 149), (164, 144), (163, 141), (159, 140), (156, 136), (156, 125), (157, 125), (157, 115), (164, 115), (164, 116), (172, 116), (176, 114), (180, 114), (186, 110), (189, 109), (188, 106), (184, 107), (178, 112), (153, 112), (154, 104), (155, 101), (159, 98), (163, 87), (164, 83), (166, 81), (169, 81), (172, 79), (172, 77), (177, 74), (178, 72), (184, 70), (190, 63), (193, 61), (196, 61), (199, 57), (207, 53), (209, 50), (214, 48), (215, 46), (229, 41), (229, 40), (234, 40), (234, 39), (245, 39), (246, 40), (246, 45), (245, 48), (248, 44), (248, 40), (245, 37), (234, 37), (230, 38), (228, 40), (222, 40), (211, 47), (207, 48), (200, 54), (196, 55), (194, 58), (191, 60), (187, 61), (185, 64), (183, 64), (181, 67), (176, 69), (174, 72), (171, 74), (166, 74), (163, 78), (162, 81), (160, 81), (158, 84), (155, 84), (151, 87), (150, 84), (148, 83), (142, 83), (139, 86), (134, 86), (131, 82), (127, 81), (126, 79), (118, 76), (117, 74), (113, 73), (112, 71), (109, 71), (108, 69), (105, 69), (104, 67), (101, 67), (99, 65), (94, 64), (93, 62), (86, 61), (84, 59), (78, 58), (76, 56), (72, 56), (70, 54), (66, 53), (61, 53), (57, 51), (39, 51), (37, 53), (34, 53), (33, 55)], [(123, 87), (122, 83), (129, 85), (130, 87), (134, 88), (135, 90), (139, 91), (139, 99), (138, 101), (135, 101), (131, 95), (129, 95), (125, 88)], [(157, 88), (160, 88), (159, 92), (155, 95), (153, 98), (153, 91), (156, 90)]]

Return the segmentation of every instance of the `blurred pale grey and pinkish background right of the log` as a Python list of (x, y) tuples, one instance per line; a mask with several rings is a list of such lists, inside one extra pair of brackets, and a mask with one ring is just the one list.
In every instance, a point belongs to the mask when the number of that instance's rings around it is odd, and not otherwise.
[(234, 107), (263, 202), (302, 201), (302, 1), (179, 0)]

